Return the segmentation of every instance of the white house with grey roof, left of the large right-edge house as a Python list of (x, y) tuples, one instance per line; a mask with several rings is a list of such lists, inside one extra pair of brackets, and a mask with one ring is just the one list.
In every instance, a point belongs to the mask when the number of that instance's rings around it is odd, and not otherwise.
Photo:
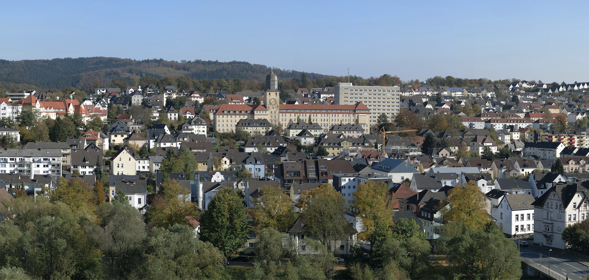
[(534, 233), (534, 196), (528, 194), (505, 195), (497, 207), (491, 209), (491, 216), (499, 228), (509, 237), (526, 236)]

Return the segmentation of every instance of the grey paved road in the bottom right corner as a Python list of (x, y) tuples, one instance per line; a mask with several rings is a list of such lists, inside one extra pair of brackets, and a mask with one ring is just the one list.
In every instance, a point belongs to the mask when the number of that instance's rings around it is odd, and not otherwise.
[[(517, 245), (517, 239), (514, 240)], [(547, 247), (532, 246), (522, 247), (519, 246), (520, 255), (524, 258), (531, 259), (534, 262), (540, 263), (541, 265), (548, 266), (548, 250)], [(550, 252), (550, 269), (551, 271), (558, 272), (562, 275), (568, 275), (569, 279), (575, 279), (580, 276), (587, 276), (589, 271), (589, 263), (583, 262), (580, 259), (575, 259), (570, 255), (563, 255), (563, 251), (554, 249)]]

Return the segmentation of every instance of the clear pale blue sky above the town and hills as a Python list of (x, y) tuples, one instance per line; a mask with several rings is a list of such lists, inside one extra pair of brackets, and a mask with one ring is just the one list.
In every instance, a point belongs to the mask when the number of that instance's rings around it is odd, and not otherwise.
[(4, 1), (0, 58), (589, 81), (586, 1)]

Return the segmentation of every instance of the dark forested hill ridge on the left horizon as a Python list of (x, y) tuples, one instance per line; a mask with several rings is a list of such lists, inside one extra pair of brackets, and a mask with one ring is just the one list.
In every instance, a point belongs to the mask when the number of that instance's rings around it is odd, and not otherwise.
[[(270, 68), (266, 65), (231, 61), (130, 60), (114, 57), (55, 58), (53, 60), (0, 60), (0, 85), (5, 89), (88, 88), (92, 83), (109, 85), (113, 79), (129, 83), (132, 77), (164, 78), (186, 76), (193, 79), (240, 78), (264, 81)], [(299, 79), (302, 72), (274, 68), (284, 80)], [(330, 77), (305, 73), (310, 80)]]

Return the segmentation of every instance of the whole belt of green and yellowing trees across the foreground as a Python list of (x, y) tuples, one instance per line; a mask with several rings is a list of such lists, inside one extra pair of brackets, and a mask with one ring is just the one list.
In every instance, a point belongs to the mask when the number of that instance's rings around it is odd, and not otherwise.
[[(55, 190), (36, 199), (25, 195), (2, 206), (0, 223), (2, 279), (515, 279), (521, 276), (519, 254), (494, 223), (477, 216), (478, 193), (465, 187), (450, 193), (456, 203), (436, 251), (415, 220), (391, 219), (386, 185), (360, 184), (353, 207), (363, 217), (370, 249), (360, 246), (337, 265), (331, 246), (341, 238), (338, 217), (346, 207), (331, 185), (306, 192), (294, 213), (283, 192), (262, 188), (256, 209), (243, 207), (243, 197), (223, 189), (201, 213), (201, 236), (188, 226), (191, 206), (173, 180), (163, 184), (157, 207), (147, 215), (128, 205), (124, 194), (112, 203), (80, 179), (61, 179)], [(459, 190), (459, 191), (458, 191)], [(468, 215), (458, 215), (466, 211)], [(244, 223), (249, 215), (249, 225)], [(308, 223), (302, 254), (286, 234), (293, 219)], [(249, 228), (253, 226), (253, 228)], [(244, 230), (247, 229), (247, 230)], [(226, 266), (239, 253), (248, 232), (257, 233), (254, 265)], [(330, 229), (329, 233), (326, 229)]]

